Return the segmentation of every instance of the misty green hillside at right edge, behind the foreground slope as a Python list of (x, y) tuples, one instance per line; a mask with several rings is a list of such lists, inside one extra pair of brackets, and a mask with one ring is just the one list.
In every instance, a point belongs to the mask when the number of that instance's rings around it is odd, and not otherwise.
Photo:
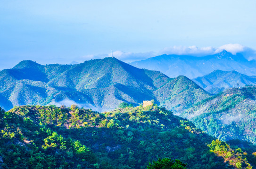
[(256, 86), (231, 88), (187, 109), (183, 117), (222, 140), (256, 143)]

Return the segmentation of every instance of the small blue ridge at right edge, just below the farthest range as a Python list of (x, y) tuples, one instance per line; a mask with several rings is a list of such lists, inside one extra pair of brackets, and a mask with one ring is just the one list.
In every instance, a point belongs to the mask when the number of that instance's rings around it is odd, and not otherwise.
[(234, 70), (215, 70), (203, 77), (197, 77), (192, 80), (207, 92), (215, 94), (223, 92), (231, 87), (256, 85), (256, 76), (247, 76)]

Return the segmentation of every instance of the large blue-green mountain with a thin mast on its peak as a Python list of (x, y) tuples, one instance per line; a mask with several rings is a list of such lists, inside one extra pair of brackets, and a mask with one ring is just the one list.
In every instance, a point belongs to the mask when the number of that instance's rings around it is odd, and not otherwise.
[(6, 110), (20, 105), (77, 104), (106, 111), (123, 101), (139, 105), (155, 100), (177, 112), (209, 96), (187, 77), (169, 78), (111, 57), (74, 65), (21, 61), (0, 71), (0, 107)]

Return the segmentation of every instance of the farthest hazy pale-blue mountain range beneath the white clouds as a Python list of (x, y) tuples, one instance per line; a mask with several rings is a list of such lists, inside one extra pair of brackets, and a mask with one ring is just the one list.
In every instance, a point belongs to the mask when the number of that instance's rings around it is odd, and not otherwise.
[(183, 75), (189, 78), (204, 76), (216, 69), (235, 70), (245, 75), (256, 75), (256, 61), (248, 61), (242, 54), (233, 55), (225, 50), (219, 54), (195, 57), (189, 55), (160, 55), (130, 63), (137, 68), (157, 70), (168, 77)]

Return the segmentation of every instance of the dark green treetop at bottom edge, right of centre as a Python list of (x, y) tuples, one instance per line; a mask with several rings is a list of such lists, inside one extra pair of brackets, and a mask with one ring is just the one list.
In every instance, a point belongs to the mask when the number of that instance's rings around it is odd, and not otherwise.
[(158, 158), (157, 161), (149, 162), (147, 169), (187, 169), (187, 164), (180, 160), (171, 160), (169, 158)]

